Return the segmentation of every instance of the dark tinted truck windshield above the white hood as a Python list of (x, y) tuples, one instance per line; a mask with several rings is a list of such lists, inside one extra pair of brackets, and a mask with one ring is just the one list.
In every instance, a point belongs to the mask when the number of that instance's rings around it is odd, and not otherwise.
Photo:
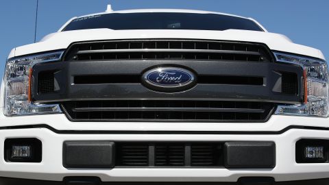
[(77, 29), (194, 29), (217, 30), (245, 29), (263, 31), (247, 18), (222, 14), (195, 13), (112, 13), (75, 18), (62, 31)]

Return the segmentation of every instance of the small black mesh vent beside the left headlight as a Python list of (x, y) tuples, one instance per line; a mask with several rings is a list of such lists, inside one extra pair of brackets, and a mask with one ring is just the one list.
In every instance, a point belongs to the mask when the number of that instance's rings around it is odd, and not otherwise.
[(38, 74), (38, 93), (53, 93), (55, 79), (53, 71), (42, 71)]

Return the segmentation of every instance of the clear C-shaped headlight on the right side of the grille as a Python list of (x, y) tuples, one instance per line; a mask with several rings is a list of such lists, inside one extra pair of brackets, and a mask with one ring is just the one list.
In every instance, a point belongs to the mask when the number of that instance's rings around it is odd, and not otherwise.
[(297, 116), (328, 116), (328, 66), (326, 61), (315, 58), (274, 53), (277, 62), (298, 64), (304, 69), (304, 103), (293, 106), (278, 106), (276, 114)]

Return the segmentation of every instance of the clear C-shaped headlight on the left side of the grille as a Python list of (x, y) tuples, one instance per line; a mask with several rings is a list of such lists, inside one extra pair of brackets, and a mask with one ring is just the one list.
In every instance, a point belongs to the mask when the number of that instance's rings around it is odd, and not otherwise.
[(39, 62), (60, 60), (63, 51), (8, 60), (5, 66), (5, 115), (61, 112), (58, 105), (35, 104), (30, 101), (32, 67)]

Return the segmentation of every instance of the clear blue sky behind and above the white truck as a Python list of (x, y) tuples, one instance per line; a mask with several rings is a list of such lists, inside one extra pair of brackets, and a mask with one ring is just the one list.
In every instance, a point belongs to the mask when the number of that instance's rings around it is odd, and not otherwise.
[[(321, 49), (329, 58), (328, 0), (39, 0), (37, 40), (56, 32), (73, 16), (135, 8), (184, 8), (255, 18), (269, 32)], [(0, 0), (0, 71), (10, 50), (34, 42), (36, 0)]]

